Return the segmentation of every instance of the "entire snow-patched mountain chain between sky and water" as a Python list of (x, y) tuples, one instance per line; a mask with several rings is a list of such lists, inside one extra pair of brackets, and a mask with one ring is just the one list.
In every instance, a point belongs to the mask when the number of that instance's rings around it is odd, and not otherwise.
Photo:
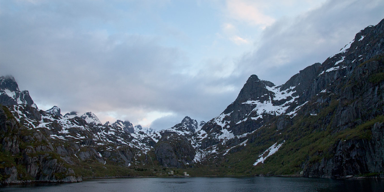
[(0, 78), (0, 182), (113, 176), (384, 177), (384, 20), (276, 86), (250, 76), (216, 118), (153, 131), (42, 111)]

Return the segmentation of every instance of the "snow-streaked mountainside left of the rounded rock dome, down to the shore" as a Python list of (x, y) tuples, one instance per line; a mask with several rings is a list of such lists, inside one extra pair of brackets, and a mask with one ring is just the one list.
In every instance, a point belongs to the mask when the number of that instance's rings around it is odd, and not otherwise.
[[(2, 90), (17, 93), (13, 77), (2, 77), (0, 82), (6, 82)], [(81, 181), (84, 171), (89, 176), (123, 175), (131, 172), (130, 166), (149, 160), (142, 160), (142, 156), (153, 149), (157, 141), (154, 139), (158, 138), (151, 131), (131, 134), (133, 127), (129, 122), (116, 121), (103, 126), (91, 112), (61, 116), (57, 106), (47, 111), (35, 106), (32, 100), (24, 104), (1, 103), (1, 183), (77, 182)], [(91, 169), (101, 165), (102, 169)], [(120, 166), (126, 168), (120, 169)]]

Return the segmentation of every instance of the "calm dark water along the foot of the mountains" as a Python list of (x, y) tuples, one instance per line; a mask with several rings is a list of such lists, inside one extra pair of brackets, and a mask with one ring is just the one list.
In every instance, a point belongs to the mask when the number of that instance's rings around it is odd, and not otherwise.
[(97, 179), (71, 184), (0, 187), (8, 192), (383, 192), (381, 180), (285, 177), (189, 177)]

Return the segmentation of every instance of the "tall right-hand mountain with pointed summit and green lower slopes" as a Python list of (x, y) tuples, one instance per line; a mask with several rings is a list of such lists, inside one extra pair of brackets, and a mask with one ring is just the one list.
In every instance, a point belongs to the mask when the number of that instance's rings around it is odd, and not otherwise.
[(255, 174), (379, 176), (383, 34), (384, 21), (368, 26), (280, 86), (250, 76), (237, 99), (194, 134), (197, 159)]

